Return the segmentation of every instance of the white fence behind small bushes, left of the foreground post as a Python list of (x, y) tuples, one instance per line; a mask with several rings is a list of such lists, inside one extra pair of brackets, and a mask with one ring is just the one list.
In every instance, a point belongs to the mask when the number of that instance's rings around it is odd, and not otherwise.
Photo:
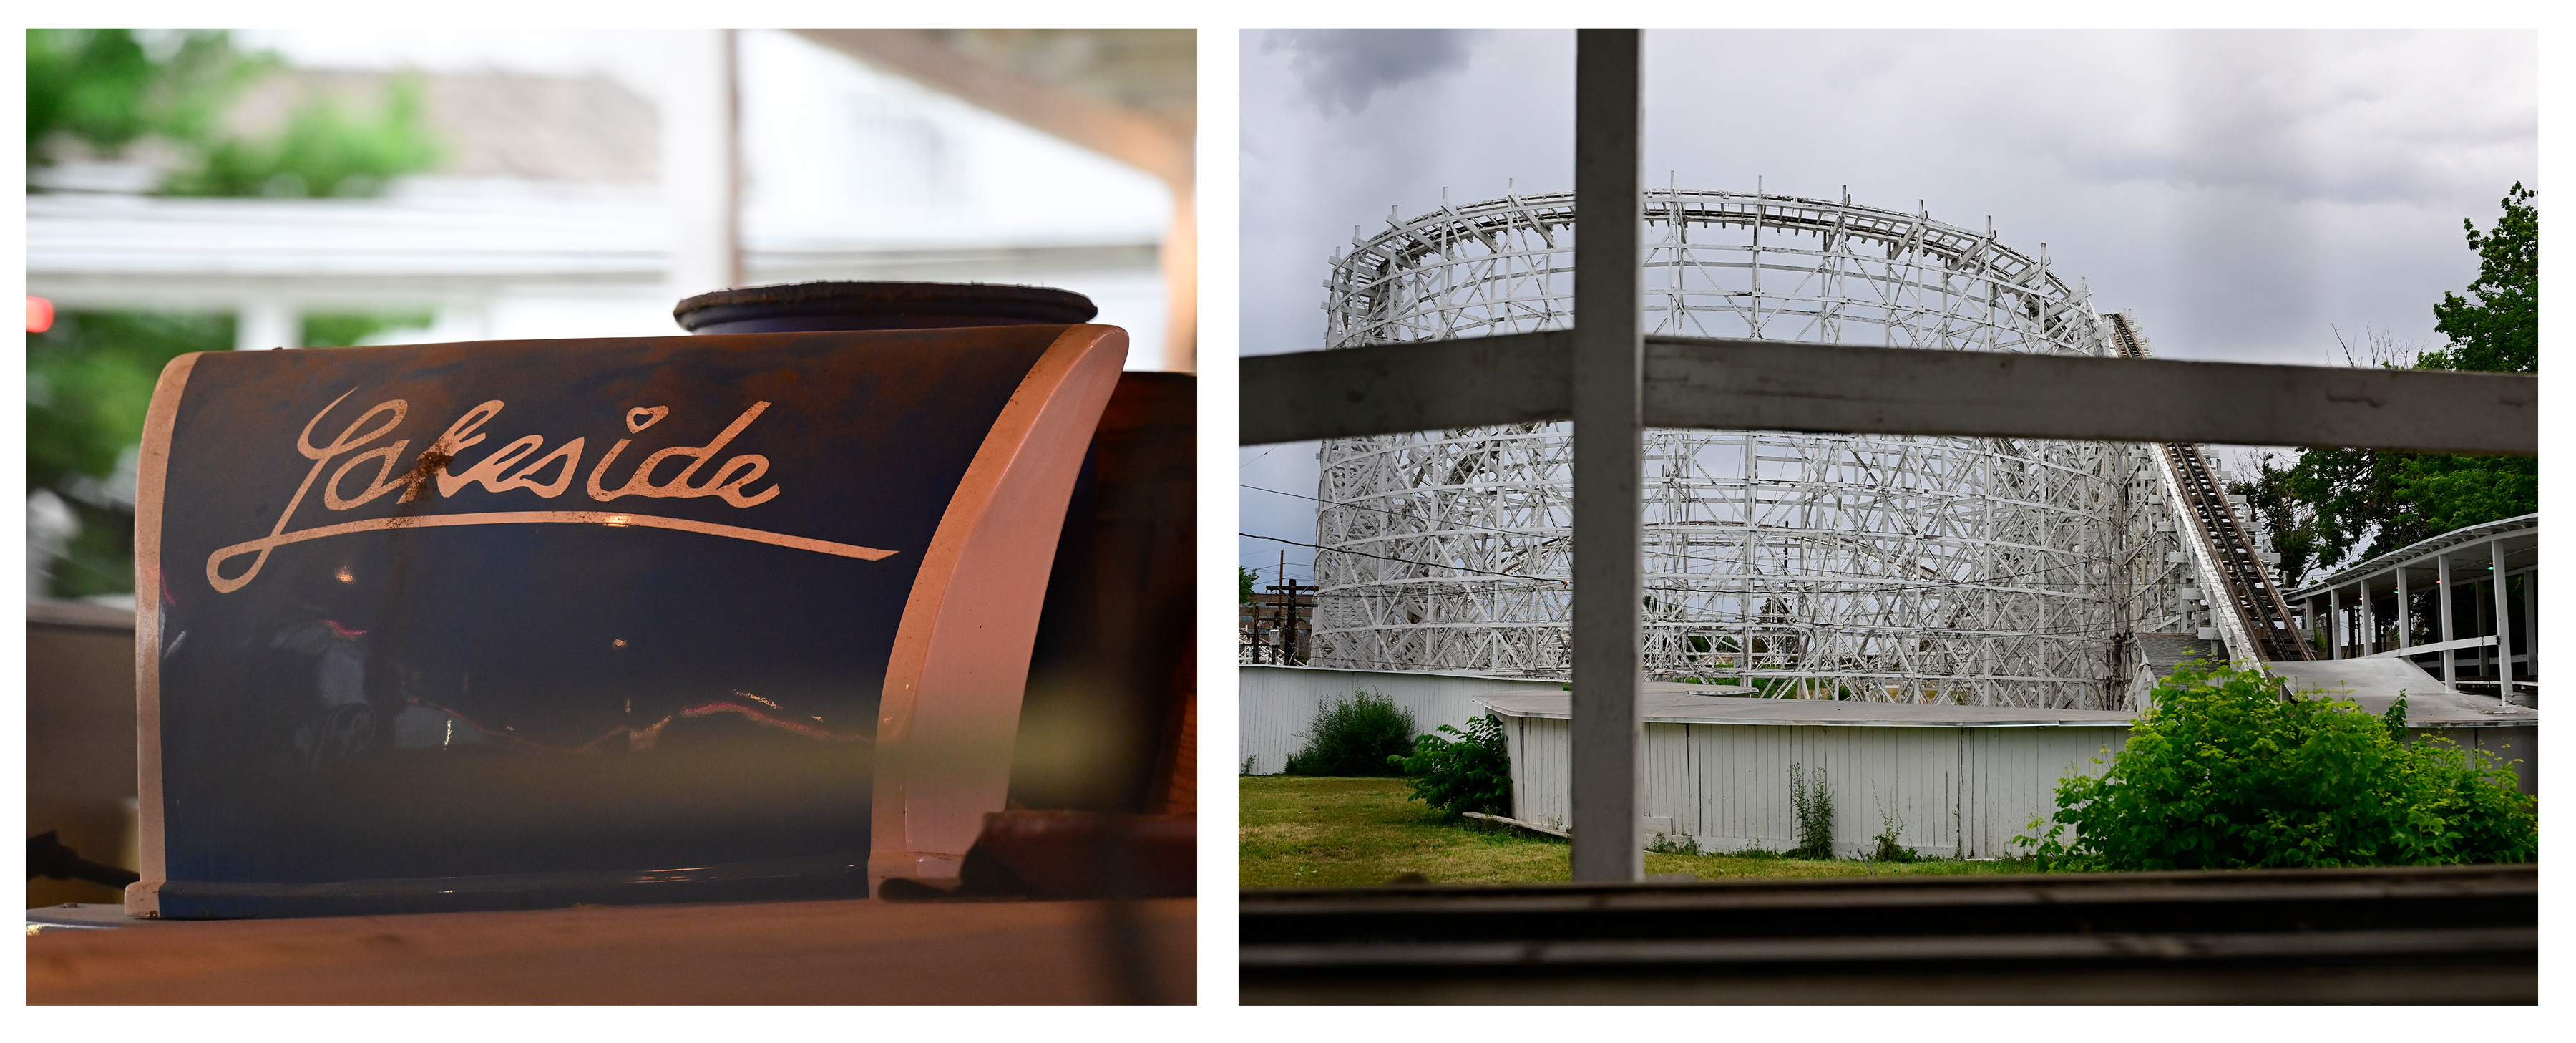
[(1430, 675), (1388, 670), (1321, 670), (1321, 667), (1236, 667), (1242, 675), (1242, 747), (1234, 752), (1236, 767), (1252, 762), (1247, 775), (1278, 775), (1288, 770), (1288, 757), (1306, 744), (1314, 713), (1334, 698), (1370, 693), (1394, 700), (1414, 716), (1419, 731), (1443, 724), (1466, 729), (1484, 713), (1476, 695), (1492, 693), (1558, 693), (1556, 680), (1494, 680), (1481, 675)]

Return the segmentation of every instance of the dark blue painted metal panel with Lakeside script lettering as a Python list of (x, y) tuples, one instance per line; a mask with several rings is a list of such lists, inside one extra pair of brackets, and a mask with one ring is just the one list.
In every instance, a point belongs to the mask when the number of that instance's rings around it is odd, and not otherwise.
[(160, 914), (866, 894), (912, 579), (1059, 332), (196, 355)]

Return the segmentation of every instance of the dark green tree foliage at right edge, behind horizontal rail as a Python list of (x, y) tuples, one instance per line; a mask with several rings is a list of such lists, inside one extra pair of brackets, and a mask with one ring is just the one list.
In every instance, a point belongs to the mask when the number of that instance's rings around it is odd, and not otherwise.
[[(2468, 296), (2442, 294), (2434, 330), (2450, 348), (2427, 350), (2414, 368), (2494, 373), (2540, 371), (2540, 209), (2537, 193), (2514, 183), (2496, 227), (2468, 229), (2478, 278)], [(2396, 366), (2396, 361), (2380, 361)], [(2522, 456), (2421, 456), (2372, 448), (2303, 448), (2298, 461), (2262, 461), (2239, 482), (2254, 515), (2275, 536), (2282, 574), (2293, 582), (2352, 556), (2401, 549), (2455, 528), (2540, 510), (2540, 461)], [(2367, 541), (2367, 546), (2365, 546)]]

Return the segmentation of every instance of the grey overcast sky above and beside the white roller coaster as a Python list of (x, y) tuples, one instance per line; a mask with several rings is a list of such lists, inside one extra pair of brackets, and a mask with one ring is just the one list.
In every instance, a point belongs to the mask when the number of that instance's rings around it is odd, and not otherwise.
[[(1571, 188), (1571, 31), (1244, 31), (1242, 350), (1319, 348), (1327, 255), (1388, 203)], [(2432, 304), (2478, 273), (2460, 219), (2540, 188), (2537, 144), (2527, 31), (1646, 33), (1649, 185), (1994, 216), (2161, 358), (2437, 348)], [(1314, 443), (1242, 458), (1316, 492)], [(1244, 492), (1242, 523), (1314, 541), (1314, 502)], [(1278, 582), (1283, 543), (1239, 543)]]

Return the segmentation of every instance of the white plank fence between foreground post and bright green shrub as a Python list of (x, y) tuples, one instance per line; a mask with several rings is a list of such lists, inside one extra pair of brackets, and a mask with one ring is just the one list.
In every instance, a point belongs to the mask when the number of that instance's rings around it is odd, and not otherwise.
[[(1569, 721), (1504, 716), (1512, 816), (1564, 829)], [(2099, 775), (2125, 726), (1790, 726), (1646, 721), (1646, 834), (1703, 852), (1798, 847), (1790, 765), (1824, 773), (1834, 793), (1834, 855), (1875, 847), (1883, 816), (1896, 842), (1937, 858), (2007, 858), (2030, 819), (2056, 811), (2058, 778)]]

